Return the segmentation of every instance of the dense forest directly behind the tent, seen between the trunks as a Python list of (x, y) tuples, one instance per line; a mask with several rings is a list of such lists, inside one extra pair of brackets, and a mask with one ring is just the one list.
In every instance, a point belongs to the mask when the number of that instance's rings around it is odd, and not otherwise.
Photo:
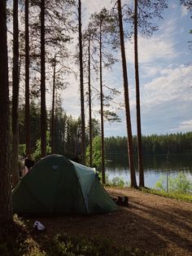
[[(19, 134), (20, 134), (20, 155), (25, 155), (24, 143), (26, 143), (25, 136), (25, 109), (24, 104), (20, 105), (19, 109)], [(41, 108), (40, 104), (31, 102), (30, 104), (30, 139), (31, 139), (31, 152), (35, 152), (35, 157), (40, 157), (41, 142), (40, 138), (40, 116)], [(48, 130), (51, 127), (51, 112), (47, 113), (47, 126)], [(96, 135), (100, 135), (100, 125), (95, 119), (92, 120), (92, 135), (93, 138)], [(74, 118), (68, 116), (62, 108), (62, 101), (58, 98), (55, 102), (55, 131), (54, 131), (54, 153), (65, 155), (70, 159), (75, 159), (81, 155), (81, 118)], [(51, 135), (50, 135), (51, 137)], [(86, 130), (86, 143), (89, 140), (89, 130)], [(50, 152), (47, 148), (47, 152)]]

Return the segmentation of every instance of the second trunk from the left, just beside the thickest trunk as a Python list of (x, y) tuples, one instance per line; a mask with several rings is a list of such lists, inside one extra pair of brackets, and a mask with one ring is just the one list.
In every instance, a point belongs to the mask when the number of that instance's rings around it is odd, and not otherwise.
[(19, 174), (19, 24), (18, 0), (13, 1), (13, 86), (12, 86), (12, 185), (20, 180)]

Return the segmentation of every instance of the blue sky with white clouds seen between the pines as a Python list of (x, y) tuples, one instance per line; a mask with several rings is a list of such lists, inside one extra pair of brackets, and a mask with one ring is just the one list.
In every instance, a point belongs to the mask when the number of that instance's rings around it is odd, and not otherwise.
[[(109, 0), (82, 0), (83, 22), (89, 14), (111, 7)], [(190, 13), (169, 1), (164, 20), (159, 20), (159, 30), (149, 39), (138, 37), (142, 135), (165, 135), (192, 130), (192, 20)], [(83, 23), (84, 24), (84, 23)], [(82, 24), (82, 28), (84, 26)], [(125, 40), (129, 75), (129, 102), (133, 135), (137, 135), (136, 99), (133, 67), (133, 43)], [(120, 58), (120, 52), (117, 53)], [(116, 86), (121, 94), (116, 101), (124, 103), (121, 62), (111, 72), (103, 71), (104, 82)], [(74, 117), (80, 116), (78, 81), (73, 81), (64, 91), (63, 108)], [(99, 106), (94, 106), (97, 110)], [(120, 123), (104, 123), (105, 137), (126, 136), (124, 108), (116, 109)], [(85, 113), (86, 115), (88, 113)], [(96, 118), (99, 117), (95, 114)]]

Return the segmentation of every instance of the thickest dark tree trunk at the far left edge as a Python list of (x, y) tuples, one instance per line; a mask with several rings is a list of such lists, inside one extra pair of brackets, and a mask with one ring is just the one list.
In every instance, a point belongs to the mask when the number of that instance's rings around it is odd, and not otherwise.
[(7, 1), (0, 1), (0, 240), (13, 222), (11, 203)]

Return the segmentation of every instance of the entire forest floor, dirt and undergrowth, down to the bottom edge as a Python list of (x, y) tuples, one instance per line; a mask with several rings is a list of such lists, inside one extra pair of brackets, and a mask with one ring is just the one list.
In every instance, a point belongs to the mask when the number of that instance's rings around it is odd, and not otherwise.
[[(192, 255), (192, 204), (130, 188), (111, 214), (15, 217), (19, 231), (0, 242), (0, 255)], [(33, 230), (38, 220), (45, 232)], [(17, 229), (18, 230), (18, 229)]]

